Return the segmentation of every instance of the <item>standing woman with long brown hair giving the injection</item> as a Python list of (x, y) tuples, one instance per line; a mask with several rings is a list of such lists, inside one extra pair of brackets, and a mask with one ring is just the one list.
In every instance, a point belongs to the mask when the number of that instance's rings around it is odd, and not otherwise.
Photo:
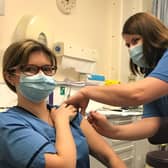
[(128, 84), (87, 86), (66, 103), (81, 107), (82, 113), (89, 99), (121, 107), (143, 104), (142, 120), (132, 124), (114, 126), (95, 112), (88, 118), (104, 136), (137, 140), (154, 135), (161, 120), (168, 117), (168, 28), (149, 13), (137, 13), (125, 22), (122, 36), (131, 71), (145, 78)]

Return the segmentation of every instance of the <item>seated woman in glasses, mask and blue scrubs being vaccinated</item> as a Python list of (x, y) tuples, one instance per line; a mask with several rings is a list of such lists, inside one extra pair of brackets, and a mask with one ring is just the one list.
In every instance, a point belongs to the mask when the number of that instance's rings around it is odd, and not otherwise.
[(89, 154), (110, 168), (125, 168), (103, 138), (72, 105), (47, 105), (57, 83), (56, 57), (35, 40), (11, 44), (3, 77), (18, 102), (0, 113), (0, 167), (89, 168)]

